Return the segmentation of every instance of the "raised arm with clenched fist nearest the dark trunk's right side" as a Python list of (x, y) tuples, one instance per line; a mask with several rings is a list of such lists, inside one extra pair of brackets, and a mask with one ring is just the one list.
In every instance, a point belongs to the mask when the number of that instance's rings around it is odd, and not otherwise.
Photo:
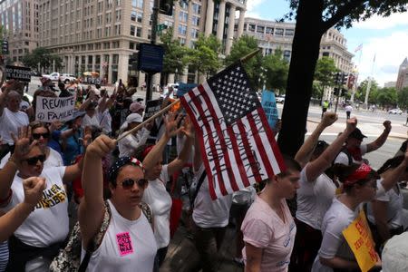
[(295, 160), (300, 163), (302, 168), (305, 167), (306, 163), (310, 160), (313, 151), (316, 148), (316, 143), (319, 140), (320, 134), (325, 130), (326, 127), (331, 126), (337, 120), (337, 114), (335, 112), (325, 112), (322, 121), (317, 125), (315, 131), (307, 137), (306, 141), (297, 151)]

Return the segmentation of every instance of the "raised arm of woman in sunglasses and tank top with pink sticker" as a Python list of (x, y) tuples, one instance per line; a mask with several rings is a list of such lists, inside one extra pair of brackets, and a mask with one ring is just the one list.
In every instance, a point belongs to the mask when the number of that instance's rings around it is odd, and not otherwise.
[(83, 201), (78, 211), (85, 247), (101, 228), (104, 214), (102, 158), (109, 154), (115, 145), (115, 141), (101, 135), (89, 145), (85, 153), (82, 177)]

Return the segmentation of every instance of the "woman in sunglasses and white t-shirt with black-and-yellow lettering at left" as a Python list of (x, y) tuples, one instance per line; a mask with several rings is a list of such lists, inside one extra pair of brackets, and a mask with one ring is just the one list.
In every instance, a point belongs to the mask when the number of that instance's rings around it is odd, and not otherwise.
[(82, 171), (82, 163), (44, 169), (44, 151), (36, 141), (30, 144), (27, 131), (25, 128), (15, 139), (15, 152), (0, 174), (2, 210), (13, 209), (24, 201), (24, 179), (45, 178), (46, 188), (43, 199), (9, 239), (8, 271), (43, 271), (49, 267), (69, 231), (68, 199), (63, 185)]

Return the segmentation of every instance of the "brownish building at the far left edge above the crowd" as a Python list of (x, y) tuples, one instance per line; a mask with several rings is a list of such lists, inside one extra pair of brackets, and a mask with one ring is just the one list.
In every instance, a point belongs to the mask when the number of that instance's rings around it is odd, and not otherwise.
[(0, 24), (8, 41), (7, 63), (21, 63), (25, 53), (38, 46), (38, 1), (0, 1)]

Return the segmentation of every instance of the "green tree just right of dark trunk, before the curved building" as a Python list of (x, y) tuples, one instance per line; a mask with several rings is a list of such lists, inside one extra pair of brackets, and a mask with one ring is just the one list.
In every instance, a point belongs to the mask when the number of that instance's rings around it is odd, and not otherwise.
[(322, 57), (316, 63), (314, 87), (317, 91), (317, 98), (323, 99), (323, 92), (326, 87), (335, 87), (334, 73), (339, 70), (335, 67), (335, 60), (330, 57)]

